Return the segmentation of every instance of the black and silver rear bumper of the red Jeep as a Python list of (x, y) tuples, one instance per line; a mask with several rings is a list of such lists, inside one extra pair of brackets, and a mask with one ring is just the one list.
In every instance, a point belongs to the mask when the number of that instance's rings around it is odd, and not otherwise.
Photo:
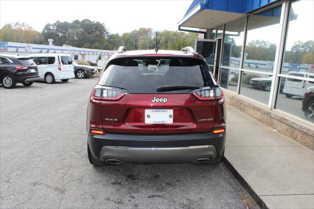
[(123, 162), (195, 162), (222, 155), (226, 133), (212, 134), (89, 134), (88, 144), (97, 159)]

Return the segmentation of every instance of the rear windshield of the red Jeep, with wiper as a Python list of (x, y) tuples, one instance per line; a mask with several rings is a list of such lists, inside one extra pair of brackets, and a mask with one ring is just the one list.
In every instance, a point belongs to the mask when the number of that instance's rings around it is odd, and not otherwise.
[(157, 92), (165, 85), (214, 87), (207, 64), (196, 58), (141, 57), (112, 60), (100, 85), (124, 88), (130, 93), (187, 93), (190, 89)]

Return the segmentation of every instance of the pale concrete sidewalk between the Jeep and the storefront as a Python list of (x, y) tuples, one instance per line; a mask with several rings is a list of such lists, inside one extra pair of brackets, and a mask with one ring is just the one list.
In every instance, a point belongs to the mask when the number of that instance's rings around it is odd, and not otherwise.
[(314, 152), (227, 107), (225, 157), (268, 208), (314, 209)]

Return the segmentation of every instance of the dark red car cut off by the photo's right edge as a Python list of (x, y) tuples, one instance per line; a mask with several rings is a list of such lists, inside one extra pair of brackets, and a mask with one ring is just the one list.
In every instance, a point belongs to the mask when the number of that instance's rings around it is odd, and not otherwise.
[(305, 114), (305, 118), (311, 122), (314, 122), (314, 86), (307, 89), (302, 100), (302, 111)]

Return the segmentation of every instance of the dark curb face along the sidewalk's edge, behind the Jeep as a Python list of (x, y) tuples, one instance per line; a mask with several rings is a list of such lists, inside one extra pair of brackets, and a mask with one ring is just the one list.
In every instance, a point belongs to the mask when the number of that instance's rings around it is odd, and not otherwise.
[(222, 158), (222, 163), (226, 166), (229, 172), (234, 176), (235, 180), (246, 190), (261, 209), (269, 209), (259, 195), (245, 181), (245, 179), (235, 170), (235, 167), (229, 162), (226, 157)]

